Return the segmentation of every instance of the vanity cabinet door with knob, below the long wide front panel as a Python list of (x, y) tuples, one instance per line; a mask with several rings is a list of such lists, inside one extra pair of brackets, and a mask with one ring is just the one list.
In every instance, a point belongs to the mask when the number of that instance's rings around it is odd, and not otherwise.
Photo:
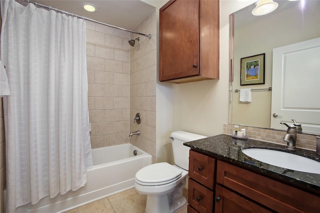
[(218, 185), (215, 188), (214, 200), (214, 213), (271, 213), (267, 209)]

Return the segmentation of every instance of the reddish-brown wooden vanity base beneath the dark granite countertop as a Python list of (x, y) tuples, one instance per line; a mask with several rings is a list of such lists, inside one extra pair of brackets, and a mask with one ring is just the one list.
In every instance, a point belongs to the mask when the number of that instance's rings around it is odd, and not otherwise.
[(188, 213), (320, 212), (319, 196), (192, 150), (188, 204)]

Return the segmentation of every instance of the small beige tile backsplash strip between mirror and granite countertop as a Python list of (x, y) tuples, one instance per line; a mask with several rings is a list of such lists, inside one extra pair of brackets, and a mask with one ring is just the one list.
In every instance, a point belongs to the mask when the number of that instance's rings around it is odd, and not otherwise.
[[(255, 140), (267, 141), (286, 145), (283, 137), (286, 134), (284, 130), (264, 129), (256, 127), (239, 126), (239, 129), (245, 129), (246, 135)], [(231, 135), (234, 131), (234, 125), (223, 124), (223, 134)], [(297, 133), (296, 147), (315, 151), (316, 136), (311, 134)]]

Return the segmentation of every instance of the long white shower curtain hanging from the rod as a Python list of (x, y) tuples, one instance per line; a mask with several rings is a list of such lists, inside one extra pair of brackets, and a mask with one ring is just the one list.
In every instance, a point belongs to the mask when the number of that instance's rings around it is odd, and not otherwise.
[(85, 22), (1, 0), (7, 212), (75, 191), (92, 165)]

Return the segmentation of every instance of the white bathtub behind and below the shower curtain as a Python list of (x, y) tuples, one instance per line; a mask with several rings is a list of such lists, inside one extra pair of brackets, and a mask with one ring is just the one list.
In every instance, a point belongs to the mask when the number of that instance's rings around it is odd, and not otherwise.
[[(136, 156), (133, 155), (136, 150)], [(151, 155), (132, 146), (121, 144), (92, 149), (93, 167), (87, 171), (87, 182), (77, 191), (69, 191), (38, 203), (16, 209), (17, 213), (63, 212), (86, 203), (134, 187), (135, 173), (150, 165)]]

